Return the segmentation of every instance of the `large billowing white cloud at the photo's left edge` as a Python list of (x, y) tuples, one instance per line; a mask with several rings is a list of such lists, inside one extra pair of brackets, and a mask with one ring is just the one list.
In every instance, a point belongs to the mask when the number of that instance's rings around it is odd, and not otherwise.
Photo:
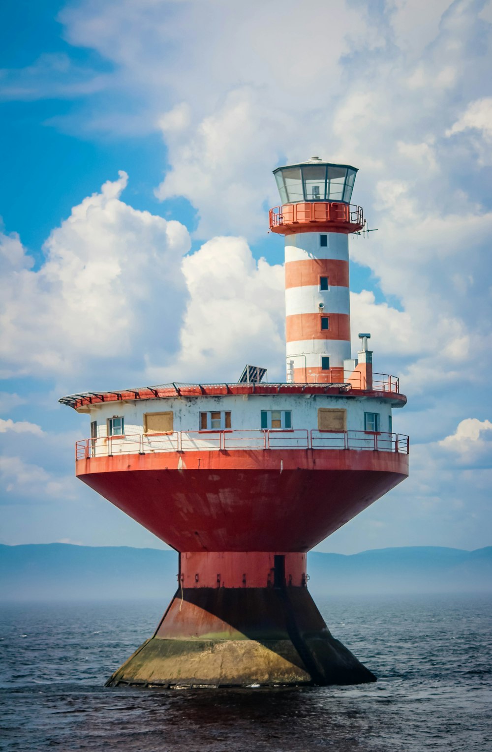
[(165, 359), (177, 347), (190, 238), (180, 223), (120, 201), (126, 180), (120, 173), (72, 209), (38, 271), (16, 235), (0, 236), (6, 375), (75, 372), (80, 389), (94, 359), (113, 374), (125, 363), (128, 376), (145, 356)]

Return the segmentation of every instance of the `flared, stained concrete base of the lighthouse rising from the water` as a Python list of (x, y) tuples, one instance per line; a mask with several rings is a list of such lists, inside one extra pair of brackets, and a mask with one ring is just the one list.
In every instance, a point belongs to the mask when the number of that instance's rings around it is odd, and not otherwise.
[(333, 638), (306, 588), (178, 591), (155, 635), (107, 685), (362, 684), (375, 676)]

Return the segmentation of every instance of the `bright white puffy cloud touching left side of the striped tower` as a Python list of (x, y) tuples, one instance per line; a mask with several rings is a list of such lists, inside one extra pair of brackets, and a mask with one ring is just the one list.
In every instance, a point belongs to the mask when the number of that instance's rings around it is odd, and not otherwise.
[[(237, 381), (246, 363), (284, 380), (284, 269), (255, 261), (244, 238), (213, 238), (183, 261), (190, 299), (181, 351), (162, 381)], [(273, 368), (272, 368), (273, 366)]]

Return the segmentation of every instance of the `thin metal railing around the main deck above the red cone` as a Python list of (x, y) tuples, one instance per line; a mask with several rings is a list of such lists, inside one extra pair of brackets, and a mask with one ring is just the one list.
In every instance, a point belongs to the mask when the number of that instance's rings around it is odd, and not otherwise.
[(75, 443), (75, 459), (120, 454), (160, 452), (278, 449), (351, 449), (408, 454), (408, 436), (372, 431), (320, 431), (317, 429), (226, 429), (225, 431), (175, 431), (84, 438)]

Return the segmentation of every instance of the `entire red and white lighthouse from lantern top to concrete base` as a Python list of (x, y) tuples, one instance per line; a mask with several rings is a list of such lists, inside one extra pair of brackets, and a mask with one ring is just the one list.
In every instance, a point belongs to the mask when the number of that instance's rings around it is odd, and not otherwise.
[(311, 157), (274, 174), (285, 381), (247, 365), (235, 382), (60, 400), (90, 417), (77, 478), (177, 552), (175, 595), (111, 686), (375, 681), (317, 610), (306, 553), (407, 477), (408, 437), (392, 426), (406, 399), (397, 378), (373, 372), (369, 332), (352, 351), (357, 169)]

